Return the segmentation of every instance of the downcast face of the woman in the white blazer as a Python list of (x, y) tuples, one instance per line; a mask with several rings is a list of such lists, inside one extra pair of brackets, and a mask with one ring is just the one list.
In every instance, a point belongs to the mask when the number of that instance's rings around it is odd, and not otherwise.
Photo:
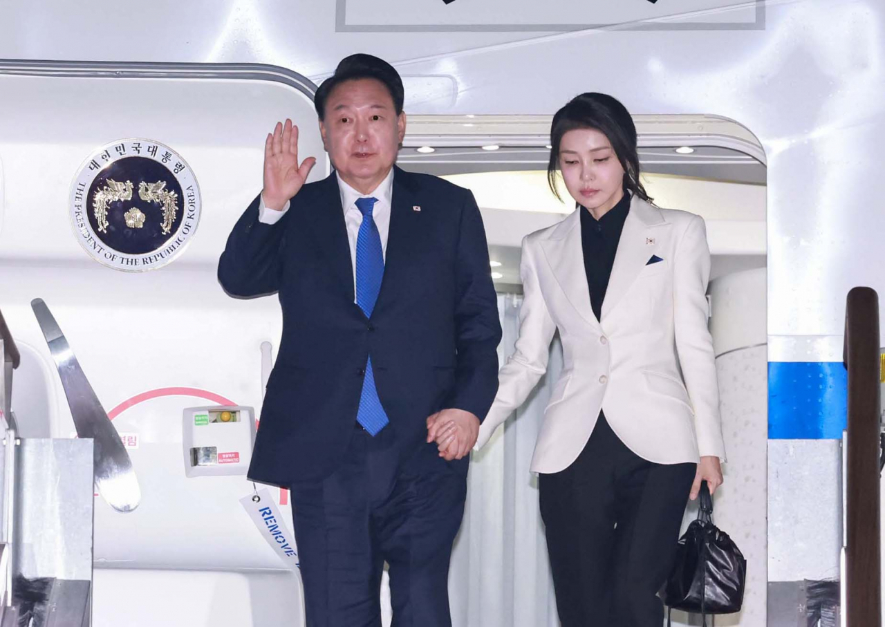
[(559, 171), (575, 202), (602, 218), (624, 197), (624, 168), (595, 128), (568, 131), (559, 142)]

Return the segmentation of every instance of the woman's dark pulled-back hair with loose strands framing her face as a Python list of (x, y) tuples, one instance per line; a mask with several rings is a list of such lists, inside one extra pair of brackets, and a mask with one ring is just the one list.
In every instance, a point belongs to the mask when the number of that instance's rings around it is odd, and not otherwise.
[(547, 182), (559, 200), (556, 171), (559, 167), (559, 145), (562, 136), (579, 128), (592, 128), (604, 134), (624, 168), (624, 191), (639, 196), (647, 203), (651, 198), (639, 180), (639, 154), (636, 151), (636, 126), (627, 108), (617, 98), (588, 92), (575, 96), (553, 116), (550, 126), (550, 163)]

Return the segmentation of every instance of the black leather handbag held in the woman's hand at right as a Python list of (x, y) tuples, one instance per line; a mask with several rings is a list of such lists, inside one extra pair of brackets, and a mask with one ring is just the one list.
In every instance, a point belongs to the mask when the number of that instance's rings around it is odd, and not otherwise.
[(741, 549), (712, 522), (713, 500), (706, 481), (701, 485), (697, 519), (679, 539), (673, 571), (661, 590), (667, 625), (673, 609), (704, 616), (741, 611), (747, 561)]

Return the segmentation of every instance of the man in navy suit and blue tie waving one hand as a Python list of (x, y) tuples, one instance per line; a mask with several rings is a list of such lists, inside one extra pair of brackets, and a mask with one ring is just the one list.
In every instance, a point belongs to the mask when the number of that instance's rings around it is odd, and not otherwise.
[(316, 160), (299, 164), (297, 127), (278, 123), (219, 260), (229, 294), (280, 298), (249, 476), (292, 492), (308, 627), (380, 626), (384, 562), (394, 625), (451, 624), (468, 453), (497, 390), (480, 211), (394, 165), (403, 99), (386, 62), (342, 60), (315, 98), (335, 172), (305, 185)]

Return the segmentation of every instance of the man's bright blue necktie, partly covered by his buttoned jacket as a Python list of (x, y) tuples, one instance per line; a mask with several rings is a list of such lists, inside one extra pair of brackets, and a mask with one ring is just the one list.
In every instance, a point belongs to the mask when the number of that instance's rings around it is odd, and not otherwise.
[[(372, 316), (375, 301), (381, 291), (381, 279), (384, 278), (381, 234), (372, 218), (372, 210), (377, 202), (377, 198), (357, 199), (357, 209), (363, 214), (363, 223), (359, 226), (357, 236), (357, 304), (366, 317)], [(375, 389), (371, 356), (366, 363), (366, 378), (363, 379), (363, 392), (359, 396), (357, 422), (372, 435), (377, 435), (389, 423), (387, 413), (381, 407), (378, 390)]]

